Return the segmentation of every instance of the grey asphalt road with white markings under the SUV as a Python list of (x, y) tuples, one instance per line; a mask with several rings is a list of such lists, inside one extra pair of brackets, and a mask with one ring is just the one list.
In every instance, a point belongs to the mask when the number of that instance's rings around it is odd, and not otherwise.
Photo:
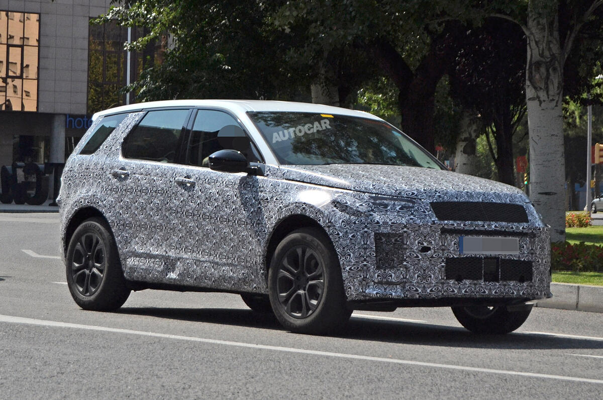
[(238, 295), (141, 291), (75, 305), (57, 214), (0, 213), (0, 398), (601, 398), (603, 314), (535, 308), (476, 336), (447, 308), (284, 331)]

